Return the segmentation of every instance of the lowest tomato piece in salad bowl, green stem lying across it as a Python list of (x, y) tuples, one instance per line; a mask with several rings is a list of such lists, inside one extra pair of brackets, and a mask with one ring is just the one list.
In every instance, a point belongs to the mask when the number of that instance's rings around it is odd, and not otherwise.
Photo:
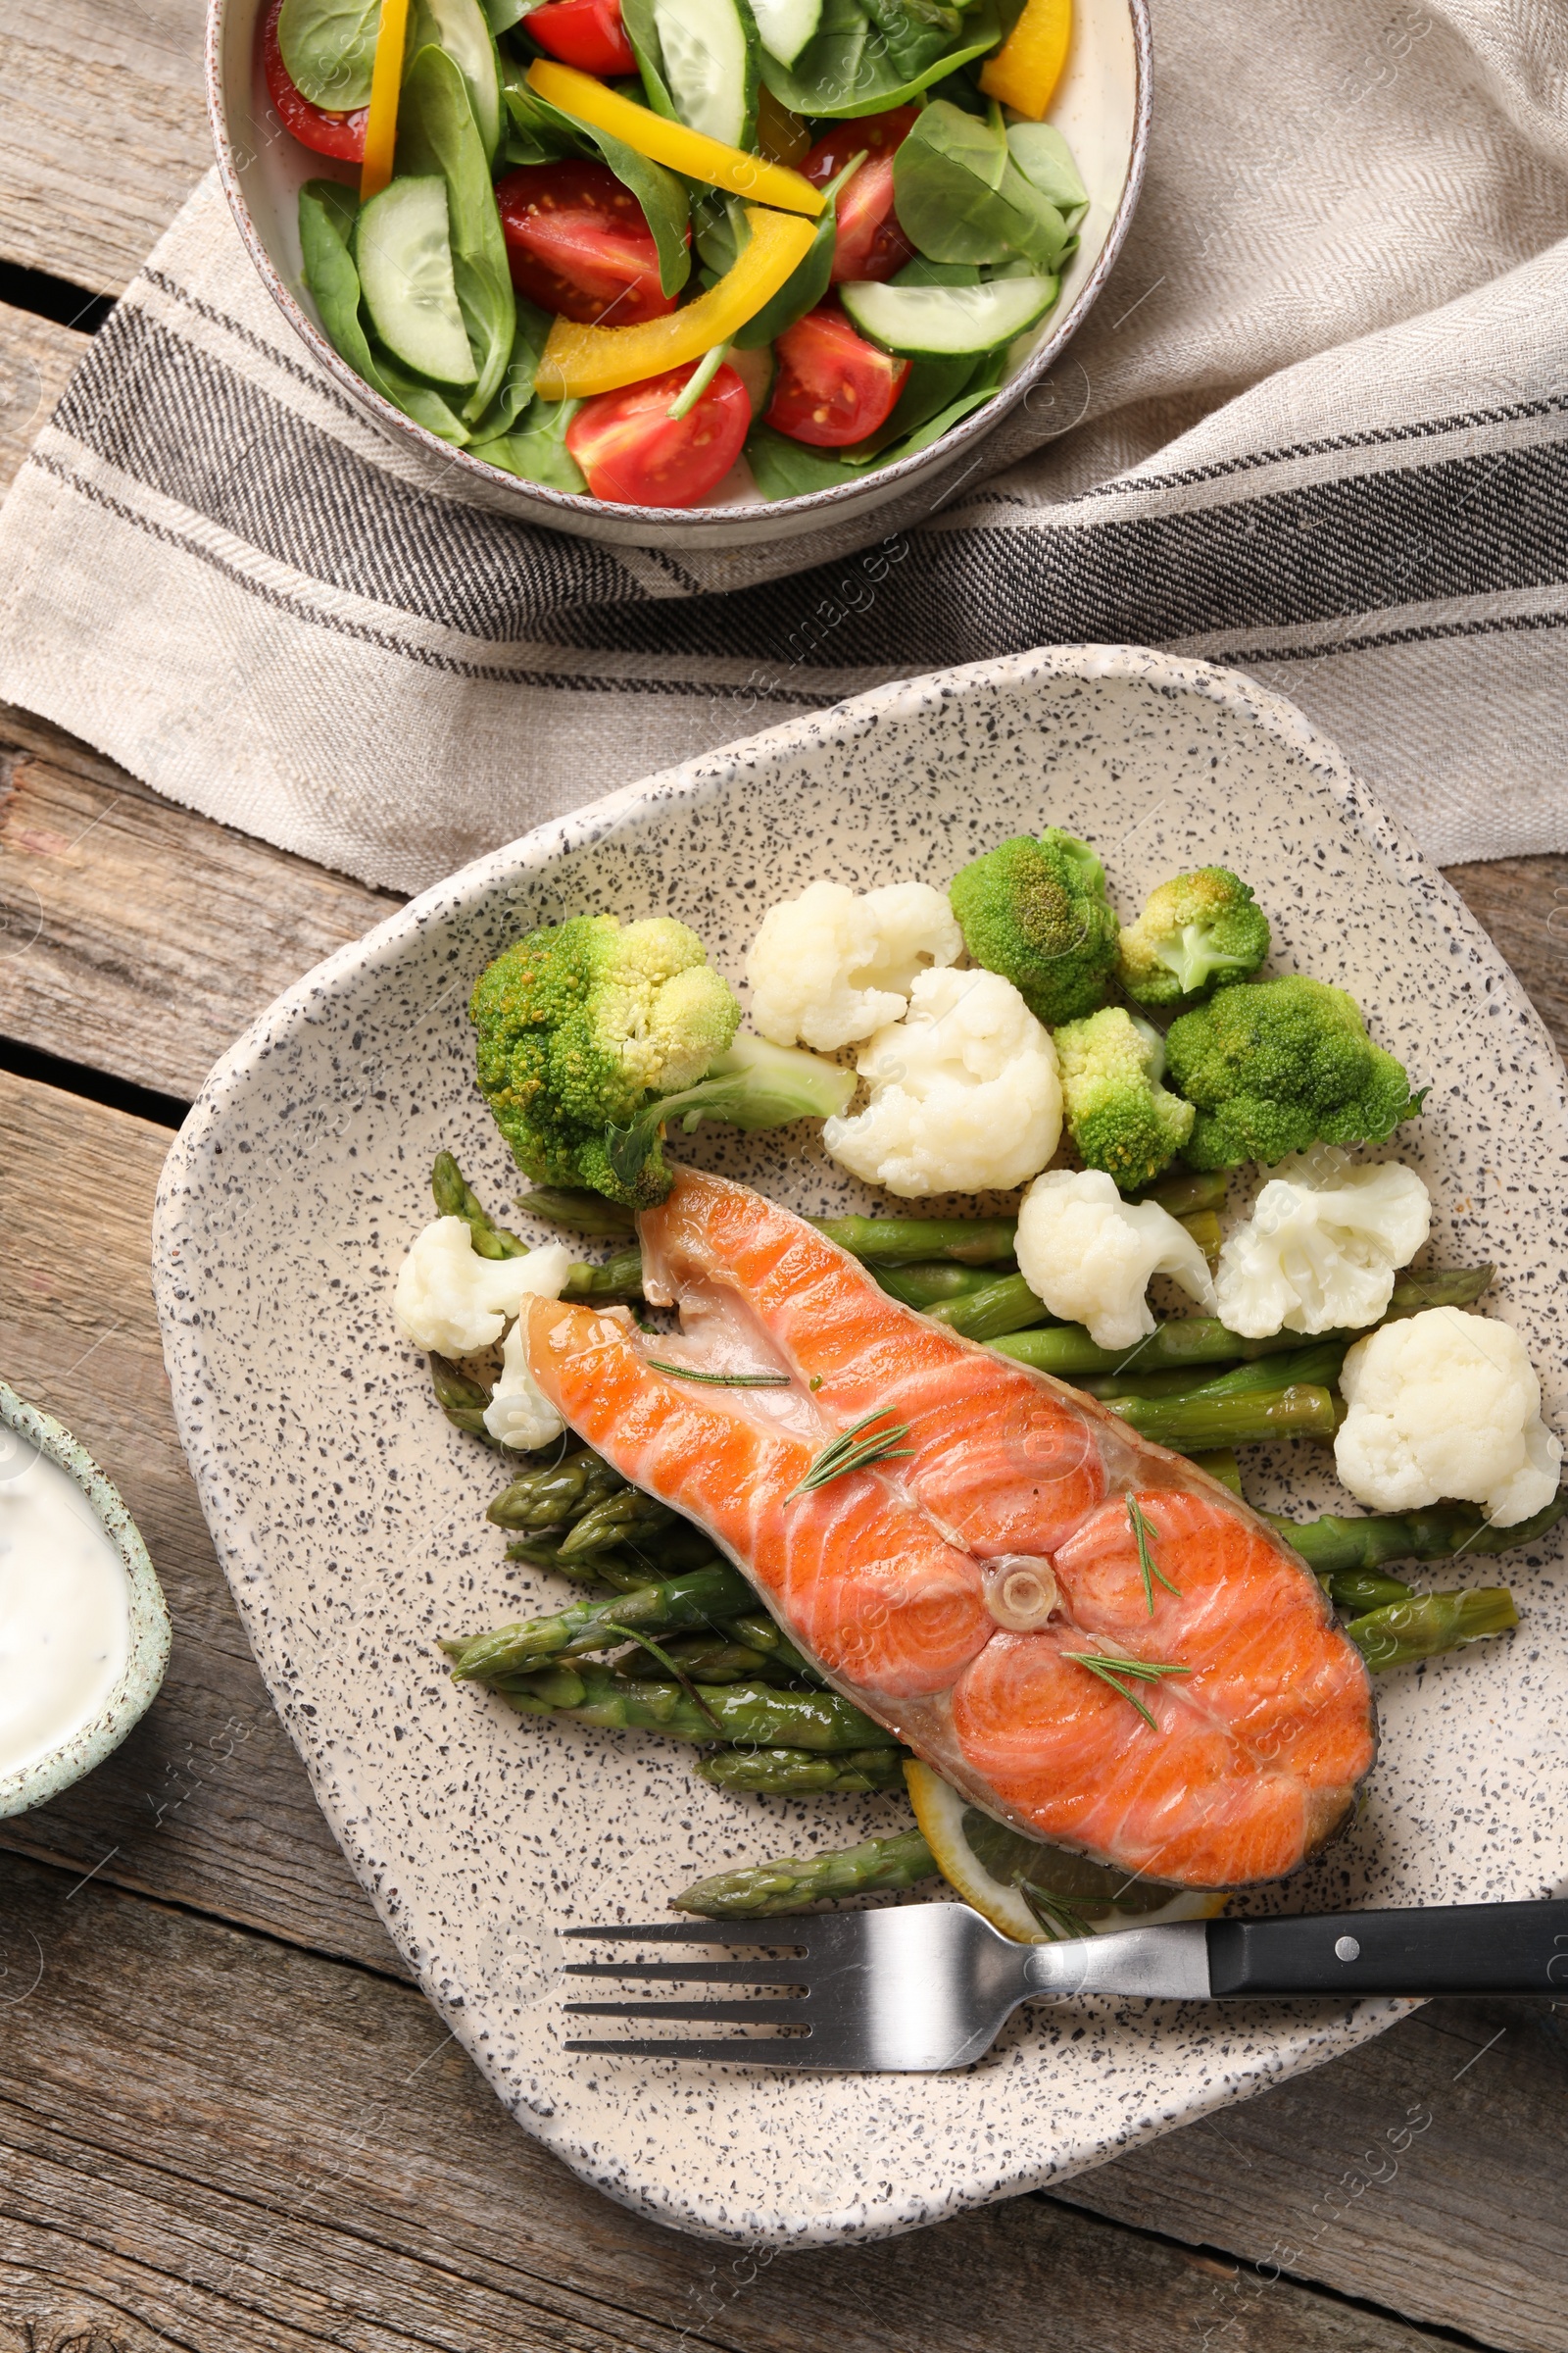
[(567, 447), (595, 499), (618, 506), (696, 506), (741, 456), (752, 402), (733, 367), (722, 367), (686, 416), (670, 402), (698, 367), (672, 367), (621, 393), (585, 400), (567, 426)]

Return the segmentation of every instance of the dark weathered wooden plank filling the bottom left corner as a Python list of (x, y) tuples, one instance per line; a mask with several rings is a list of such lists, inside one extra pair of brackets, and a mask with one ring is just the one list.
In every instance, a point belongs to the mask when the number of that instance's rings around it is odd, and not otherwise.
[[(66, 1887), (0, 1859), (0, 1998), (31, 1986), (0, 2033), (7, 2353), (1168, 2353), (1222, 2318), (1222, 2266), (1037, 2198), (776, 2261), (677, 2238), (529, 2141), (414, 1993)], [(1225, 2341), (1432, 2344), (1288, 2282)]]

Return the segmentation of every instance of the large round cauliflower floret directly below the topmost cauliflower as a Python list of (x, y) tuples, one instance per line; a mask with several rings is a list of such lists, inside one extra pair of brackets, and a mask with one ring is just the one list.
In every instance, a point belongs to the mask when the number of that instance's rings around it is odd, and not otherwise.
[(872, 1099), (853, 1118), (827, 1120), (823, 1144), (905, 1200), (1011, 1191), (1058, 1146), (1051, 1033), (994, 972), (917, 974), (907, 1019), (877, 1031), (856, 1068)]

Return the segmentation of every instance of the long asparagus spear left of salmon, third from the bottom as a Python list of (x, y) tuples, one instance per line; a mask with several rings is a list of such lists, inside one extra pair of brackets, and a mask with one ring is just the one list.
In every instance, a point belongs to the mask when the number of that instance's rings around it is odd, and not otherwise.
[(778, 1692), (724, 1682), (691, 1699), (677, 1682), (625, 1682), (607, 1666), (552, 1666), (494, 1689), (520, 1715), (569, 1715), (602, 1732), (665, 1732), (675, 1741), (757, 1748), (896, 1748), (898, 1741), (837, 1692)]

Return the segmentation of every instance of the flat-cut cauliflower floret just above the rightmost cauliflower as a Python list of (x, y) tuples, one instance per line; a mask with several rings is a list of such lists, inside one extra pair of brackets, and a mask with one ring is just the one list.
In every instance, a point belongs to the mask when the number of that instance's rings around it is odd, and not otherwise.
[(1286, 1160), (1246, 1226), (1225, 1238), (1213, 1287), (1220, 1322), (1246, 1339), (1378, 1322), (1432, 1226), (1415, 1169), (1349, 1169), (1342, 1153)]

